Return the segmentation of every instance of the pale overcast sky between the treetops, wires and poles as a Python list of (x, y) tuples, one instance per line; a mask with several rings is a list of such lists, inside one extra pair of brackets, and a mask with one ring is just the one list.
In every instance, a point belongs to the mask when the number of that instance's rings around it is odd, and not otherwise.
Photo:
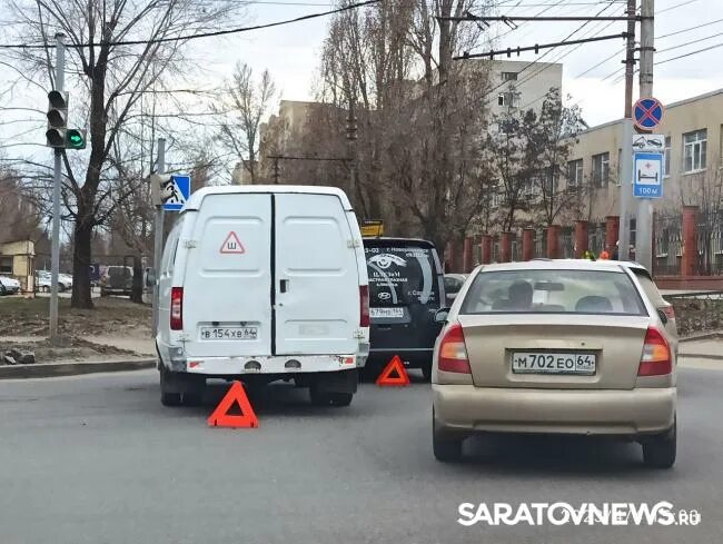
[[(4, 0), (0, 0), (2, 3)], [(598, 12), (618, 16), (624, 11), (624, 2), (621, 0), (498, 0), (496, 3), (498, 14), (505, 16), (534, 16), (542, 10), (546, 10), (545, 16), (594, 16)], [(329, 8), (331, 4), (324, 0), (250, 2), (244, 23), (259, 24), (290, 19)], [(661, 37), (656, 39), (656, 61), (723, 43), (723, 0), (656, 0), (655, 9), (655, 33)], [(0, 16), (1, 11), (0, 7)], [(250, 65), (257, 72), (268, 69), (277, 82), (279, 99), (313, 100), (327, 22), (328, 19), (320, 18), (225, 38), (196, 40), (188, 46), (194, 62), (187, 73), (188, 81), (182, 85), (188, 86), (190, 82), (198, 88), (216, 88), (229, 77), (234, 65), (240, 61)], [(491, 37), (497, 37), (496, 48), (524, 47), (561, 41), (581, 24), (525, 22), (511, 30), (504, 23), (493, 23), (487, 32)], [(664, 37), (701, 24), (707, 26)], [(578, 30), (572, 39), (624, 30), (625, 22), (622, 21), (612, 24), (595, 21)], [(696, 43), (690, 43), (697, 40)], [(537, 58), (564, 65), (563, 93), (571, 96), (570, 103), (580, 105), (587, 123), (594, 126), (622, 117), (623, 46), (622, 39), (587, 43), (580, 48), (557, 48), (545, 57), (541, 55)], [(478, 50), (484, 51), (485, 48), (486, 46), (481, 46)], [(671, 103), (723, 88), (723, 62), (720, 62), (722, 55), (723, 48), (717, 48), (656, 66), (654, 95), (664, 103)], [(535, 58), (534, 53), (527, 53), (521, 56), (519, 60), (529, 61)], [(0, 66), (0, 82), (9, 77), (8, 70)], [(7, 133), (8, 128), (0, 126), (0, 146)]]

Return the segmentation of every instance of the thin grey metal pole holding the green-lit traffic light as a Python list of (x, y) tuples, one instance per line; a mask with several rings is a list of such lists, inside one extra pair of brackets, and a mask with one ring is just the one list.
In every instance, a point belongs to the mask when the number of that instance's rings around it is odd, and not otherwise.
[[(56, 90), (62, 92), (66, 85), (65, 34), (56, 34)], [(58, 346), (58, 274), (60, 273), (60, 184), (62, 182), (62, 151), (55, 149), (52, 176), (52, 240), (50, 249), (50, 344)]]

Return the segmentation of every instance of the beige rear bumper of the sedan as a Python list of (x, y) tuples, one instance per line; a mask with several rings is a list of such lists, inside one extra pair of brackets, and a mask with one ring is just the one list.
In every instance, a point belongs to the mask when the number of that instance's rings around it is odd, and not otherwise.
[(676, 389), (563, 390), (433, 385), (439, 434), (475, 432), (625, 435), (673, 426)]

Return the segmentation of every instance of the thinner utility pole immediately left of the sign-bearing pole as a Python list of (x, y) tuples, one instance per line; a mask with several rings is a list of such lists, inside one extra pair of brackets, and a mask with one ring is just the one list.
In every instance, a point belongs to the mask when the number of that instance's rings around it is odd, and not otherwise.
[(625, 55), (625, 118), (620, 164), (618, 259), (630, 259), (630, 220), (633, 200), (633, 82), (635, 77), (636, 0), (627, 0), (627, 42)]

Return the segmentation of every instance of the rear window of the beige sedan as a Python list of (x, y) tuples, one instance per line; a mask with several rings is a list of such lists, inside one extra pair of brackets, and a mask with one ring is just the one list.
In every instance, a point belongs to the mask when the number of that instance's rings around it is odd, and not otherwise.
[(600, 270), (495, 270), (474, 279), (460, 314), (647, 315), (631, 278)]

